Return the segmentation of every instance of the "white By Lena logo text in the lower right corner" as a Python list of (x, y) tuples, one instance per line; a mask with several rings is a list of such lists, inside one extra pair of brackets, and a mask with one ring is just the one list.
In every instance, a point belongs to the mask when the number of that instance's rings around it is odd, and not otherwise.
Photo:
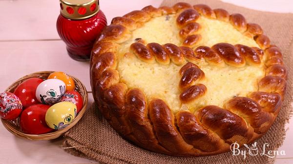
[(251, 144), (251, 146), (248, 146), (246, 144), (244, 144), (245, 148), (243, 149), (239, 149), (240, 145), (235, 142), (233, 144), (230, 145), (230, 150), (232, 151), (232, 155), (242, 155), (243, 159), (246, 158), (247, 155), (250, 156), (256, 156), (256, 155), (260, 155), (260, 156), (267, 156), (269, 158), (274, 158), (276, 155), (286, 155), (285, 154), (285, 150), (267, 150), (267, 148), (269, 147), (268, 143), (265, 143), (262, 148), (260, 148), (260, 151), (258, 150), (257, 147), (257, 142), (254, 142), (253, 144)]

